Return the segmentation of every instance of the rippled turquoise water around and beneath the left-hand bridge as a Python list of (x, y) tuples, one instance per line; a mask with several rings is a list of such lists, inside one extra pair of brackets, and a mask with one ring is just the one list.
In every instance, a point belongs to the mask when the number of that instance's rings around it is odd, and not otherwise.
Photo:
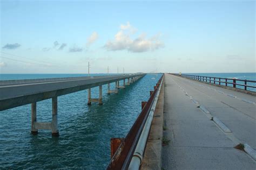
[[(2, 74), (1, 79), (68, 76), (86, 74)], [(141, 111), (140, 103), (148, 100), (161, 75), (155, 80), (153, 76), (145, 75), (119, 94), (107, 95), (104, 85), (103, 105), (88, 106), (86, 90), (59, 96), (59, 137), (52, 137), (48, 130), (30, 134), (30, 104), (0, 111), (0, 168), (105, 169), (110, 161), (110, 138), (126, 136)], [(92, 97), (97, 96), (96, 87)], [(51, 100), (37, 103), (37, 121), (51, 121)]]

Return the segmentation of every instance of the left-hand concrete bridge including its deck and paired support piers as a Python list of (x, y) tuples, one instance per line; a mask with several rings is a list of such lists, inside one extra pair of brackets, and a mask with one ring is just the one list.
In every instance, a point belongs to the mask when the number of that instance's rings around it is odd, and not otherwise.
[[(97, 102), (102, 105), (102, 86), (107, 84), (107, 94), (117, 94), (119, 88), (125, 88), (145, 74), (127, 74), (112, 76), (65, 77), (54, 79), (29, 79), (0, 81), (0, 111), (31, 103), (31, 133), (37, 134), (38, 129), (51, 130), (53, 136), (58, 136), (58, 106), (57, 97), (88, 89), (88, 105)], [(126, 82), (127, 80), (127, 82)], [(120, 86), (123, 81), (123, 86)], [(114, 90), (110, 83), (116, 82)], [(91, 98), (91, 88), (99, 87), (99, 98)], [(37, 122), (37, 103), (52, 98), (52, 121)]]

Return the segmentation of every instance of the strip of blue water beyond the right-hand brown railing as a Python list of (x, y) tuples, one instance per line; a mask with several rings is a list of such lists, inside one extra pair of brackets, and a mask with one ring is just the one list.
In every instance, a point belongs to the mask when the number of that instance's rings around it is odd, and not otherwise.
[[(200, 75), (200, 76), (210, 76), (210, 77), (220, 77), (220, 78), (228, 78), (228, 79), (241, 79), (241, 80), (253, 80), (256, 81), (256, 73), (184, 73), (190, 75)], [(224, 81), (224, 80), (221, 80)], [(228, 80), (228, 82), (233, 82), (232, 80)], [(237, 81), (238, 84), (244, 84), (243, 81)], [(225, 83), (221, 83), (221, 85), (225, 86)], [(232, 84), (227, 84), (232, 87)], [(256, 86), (256, 83), (247, 82), (247, 85)], [(237, 88), (244, 89), (244, 86), (237, 86)], [(256, 88), (248, 87), (247, 90), (256, 91)]]

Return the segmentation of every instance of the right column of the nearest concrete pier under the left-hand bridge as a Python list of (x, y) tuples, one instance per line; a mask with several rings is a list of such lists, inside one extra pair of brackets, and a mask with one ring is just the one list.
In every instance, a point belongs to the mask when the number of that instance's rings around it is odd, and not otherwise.
[(59, 136), (58, 131), (58, 100), (57, 97), (52, 97), (52, 122), (51, 122), (52, 136)]

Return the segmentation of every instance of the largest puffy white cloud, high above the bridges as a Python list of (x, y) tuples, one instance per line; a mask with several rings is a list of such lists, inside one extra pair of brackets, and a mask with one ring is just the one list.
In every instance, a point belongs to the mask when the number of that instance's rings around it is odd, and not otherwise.
[(161, 34), (156, 34), (152, 38), (147, 38), (146, 34), (140, 34), (138, 38), (132, 40), (130, 33), (133, 32), (134, 27), (132, 27), (129, 22), (127, 22), (126, 25), (120, 25), (120, 31), (114, 36), (114, 40), (107, 41), (104, 47), (109, 51), (126, 49), (127, 51), (137, 53), (154, 51), (164, 47), (164, 43), (160, 41)]

